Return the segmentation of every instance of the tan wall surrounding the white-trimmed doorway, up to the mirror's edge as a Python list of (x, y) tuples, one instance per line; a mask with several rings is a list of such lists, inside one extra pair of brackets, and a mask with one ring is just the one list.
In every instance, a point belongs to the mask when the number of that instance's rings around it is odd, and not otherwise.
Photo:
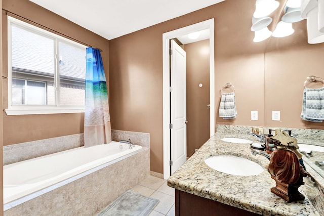
[[(162, 34), (165, 32), (215, 18), (216, 107), (221, 87), (232, 82), (238, 112), (234, 120), (216, 118), (216, 121), (264, 125), (266, 43), (252, 41), (251, 17), (244, 15), (253, 14), (254, 4), (254, 0), (227, 0), (110, 40), (111, 125), (113, 129), (150, 133), (152, 171), (163, 173)], [(251, 110), (259, 111), (260, 120), (249, 120)]]

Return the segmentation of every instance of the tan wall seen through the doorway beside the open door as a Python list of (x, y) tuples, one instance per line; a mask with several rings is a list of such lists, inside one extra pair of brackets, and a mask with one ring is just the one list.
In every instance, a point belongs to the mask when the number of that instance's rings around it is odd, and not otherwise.
[(210, 138), (209, 39), (186, 44), (184, 50), (187, 53), (187, 157), (190, 157)]

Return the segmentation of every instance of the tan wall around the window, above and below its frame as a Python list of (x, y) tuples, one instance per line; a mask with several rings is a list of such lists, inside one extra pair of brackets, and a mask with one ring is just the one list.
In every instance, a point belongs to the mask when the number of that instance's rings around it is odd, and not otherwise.
[[(105, 74), (109, 78), (109, 41), (28, 0), (4, 0), (3, 9), (44, 25), (85, 44), (100, 48)], [(18, 17), (15, 17), (18, 18)], [(3, 12), (3, 71), (7, 76), (7, 16)], [(25, 20), (23, 20), (25, 21)], [(109, 87), (108, 87), (109, 88)], [(3, 88), (4, 109), (8, 108), (7, 82)], [(84, 114), (16, 115), (3, 113), (4, 145), (83, 133)]]

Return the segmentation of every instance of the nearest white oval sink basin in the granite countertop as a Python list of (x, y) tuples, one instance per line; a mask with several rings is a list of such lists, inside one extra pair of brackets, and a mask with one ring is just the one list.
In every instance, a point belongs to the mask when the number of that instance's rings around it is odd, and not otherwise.
[(205, 163), (213, 169), (235, 176), (257, 176), (264, 171), (256, 162), (232, 155), (212, 156), (205, 159)]

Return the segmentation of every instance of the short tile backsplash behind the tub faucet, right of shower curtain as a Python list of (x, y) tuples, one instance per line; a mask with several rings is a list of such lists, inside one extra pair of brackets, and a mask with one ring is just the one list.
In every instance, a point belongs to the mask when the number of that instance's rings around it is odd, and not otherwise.
[(112, 129), (111, 136), (113, 141), (131, 140), (133, 144), (142, 147), (150, 147), (150, 134), (141, 132), (119, 131)]

